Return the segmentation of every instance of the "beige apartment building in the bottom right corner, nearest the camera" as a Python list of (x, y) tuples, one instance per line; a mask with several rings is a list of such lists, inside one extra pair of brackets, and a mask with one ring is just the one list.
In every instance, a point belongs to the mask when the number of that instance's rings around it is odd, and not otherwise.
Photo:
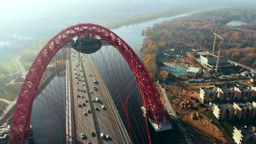
[(234, 126), (233, 139), (236, 144), (255, 144), (256, 143), (256, 127)]

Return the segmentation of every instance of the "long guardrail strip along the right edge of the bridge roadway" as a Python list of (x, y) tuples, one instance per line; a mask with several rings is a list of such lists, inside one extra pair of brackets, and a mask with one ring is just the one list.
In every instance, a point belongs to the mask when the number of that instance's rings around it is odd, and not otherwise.
[(120, 134), (122, 135), (122, 139), (123, 139), (123, 142), (124, 144), (131, 144), (131, 140), (130, 140), (130, 137), (128, 135), (128, 132), (126, 130), (126, 128), (124, 127), (124, 123), (122, 122), (122, 119), (118, 113), (118, 110), (116, 109), (116, 106), (111, 98), (111, 95), (110, 95), (110, 92), (108, 91), (108, 88), (106, 87), (106, 84), (100, 74), (100, 71), (98, 70), (98, 66), (96, 65), (96, 63), (94, 62), (94, 60), (92, 59), (92, 57), (90, 56), (90, 60), (93, 62), (94, 64), (94, 68), (96, 70), (96, 74), (98, 75), (98, 77), (100, 78), (100, 82), (101, 84), (104, 86), (104, 92), (106, 94), (106, 97), (107, 97), (107, 100), (108, 100), (108, 103), (110, 104), (111, 106), (111, 111), (112, 113), (115, 115), (114, 116), (114, 119), (116, 121), (116, 124), (118, 125), (118, 129), (119, 129), (119, 132)]

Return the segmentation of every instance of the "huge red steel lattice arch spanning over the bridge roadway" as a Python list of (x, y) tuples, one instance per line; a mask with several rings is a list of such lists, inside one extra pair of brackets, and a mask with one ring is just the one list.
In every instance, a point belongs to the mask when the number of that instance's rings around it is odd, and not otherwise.
[[(96, 24), (76, 24), (53, 36), (36, 56), (21, 86), (12, 117), (9, 144), (22, 144), (28, 137), (33, 101), (40, 79), (55, 54), (76, 36), (92, 34), (100, 36), (114, 46), (129, 64), (138, 82), (144, 107), (157, 124), (166, 119), (158, 92), (144, 64), (130, 46), (114, 32)], [(167, 120), (165, 120), (168, 122)], [(159, 125), (158, 125), (159, 126)]]

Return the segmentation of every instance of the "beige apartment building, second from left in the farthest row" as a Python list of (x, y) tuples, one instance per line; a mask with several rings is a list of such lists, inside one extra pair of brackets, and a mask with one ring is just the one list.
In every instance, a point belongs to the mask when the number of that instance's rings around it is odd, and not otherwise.
[(225, 88), (217, 88), (218, 97), (220, 100), (234, 100), (236, 96), (236, 91), (232, 87), (225, 87)]

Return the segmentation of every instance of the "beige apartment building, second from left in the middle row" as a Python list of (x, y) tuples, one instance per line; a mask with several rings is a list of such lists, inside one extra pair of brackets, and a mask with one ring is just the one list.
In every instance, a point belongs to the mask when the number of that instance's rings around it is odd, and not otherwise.
[(244, 103), (236, 103), (234, 102), (233, 108), (236, 109), (235, 115), (238, 118), (250, 119), (254, 118), (256, 114), (256, 103), (244, 102)]

